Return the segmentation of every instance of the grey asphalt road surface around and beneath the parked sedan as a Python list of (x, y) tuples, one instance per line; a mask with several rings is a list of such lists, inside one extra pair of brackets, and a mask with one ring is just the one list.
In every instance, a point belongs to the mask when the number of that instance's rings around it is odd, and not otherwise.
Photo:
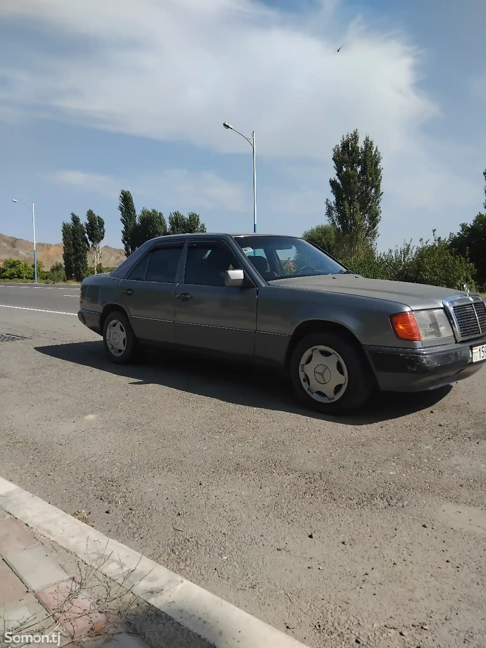
[(486, 645), (485, 369), (329, 419), (260, 370), (113, 365), (77, 294), (0, 286), (3, 477), (311, 647)]

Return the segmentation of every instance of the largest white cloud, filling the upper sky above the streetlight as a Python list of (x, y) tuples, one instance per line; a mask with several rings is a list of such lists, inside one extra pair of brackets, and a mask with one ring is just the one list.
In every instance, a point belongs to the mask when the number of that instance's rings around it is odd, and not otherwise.
[(401, 150), (436, 111), (415, 87), (419, 52), (338, 25), (329, 9), (317, 14), (320, 35), (316, 16), (295, 23), (248, 0), (3, 0), (2, 14), (76, 45), (64, 57), (35, 52), (30, 69), (12, 65), (4, 98), (110, 130), (244, 150), (222, 129), (229, 120), (256, 130), (260, 154), (327, 158), (355, 126)]

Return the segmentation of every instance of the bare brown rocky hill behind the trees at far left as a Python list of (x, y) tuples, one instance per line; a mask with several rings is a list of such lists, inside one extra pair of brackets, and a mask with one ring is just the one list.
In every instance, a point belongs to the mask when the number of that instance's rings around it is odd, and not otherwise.
[[(62, 263), (62, 243), (37, 243), (37, 260), (44, 264), (45, 270), (49, 270), (54, 263)], [(23, 238), (8, 237), (0, 234), (0, 262), (5, 259), (22, 259), (34, 262), (34, 244)], [(122, 249), (104, 246), (101, 248), (101, 264), (108, 268), (119, 266), (125, 260), (125, 253)], [(91, 264), (91, 259), (88, 262)]]

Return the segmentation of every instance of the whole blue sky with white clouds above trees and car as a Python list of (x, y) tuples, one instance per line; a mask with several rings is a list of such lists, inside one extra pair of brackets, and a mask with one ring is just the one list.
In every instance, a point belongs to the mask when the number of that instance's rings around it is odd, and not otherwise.
[[(378, 249), (484, 211), (484, 0), (1, 0), (0, 232), (56, 243), (71, 212), (121, 247), (135, 207), (208, 231), (325, 222), (332, 147), (383, 160)], [(341, 51), (337, 52), (338, 47)]]

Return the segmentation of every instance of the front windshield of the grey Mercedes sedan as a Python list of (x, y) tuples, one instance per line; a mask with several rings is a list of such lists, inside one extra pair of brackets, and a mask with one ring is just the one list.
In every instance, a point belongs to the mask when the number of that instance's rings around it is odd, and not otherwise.
[(303, 238), (251, 235), (233, 238), (266, 281), (347, 272)]

